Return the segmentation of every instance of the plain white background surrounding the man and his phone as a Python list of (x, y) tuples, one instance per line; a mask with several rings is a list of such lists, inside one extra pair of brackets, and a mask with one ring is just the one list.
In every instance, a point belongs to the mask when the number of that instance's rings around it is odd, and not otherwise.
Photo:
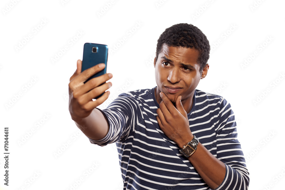
[[(122, 189), (115, 144), (89, 143), (70, 118), (69, 78), (83, 44), (92, 42), (109, 46), (107, 72), (114, 76), (109, 99), (154, 87), (157, 39), (177, 23), (194, 24), (211, 44), (209, 72), (197, 89), (231, 103), (250, 189), (283, 189), (284, 4), (2, 0), (0, 189)], [(5, 127), (9, 186), (3, 176)]]

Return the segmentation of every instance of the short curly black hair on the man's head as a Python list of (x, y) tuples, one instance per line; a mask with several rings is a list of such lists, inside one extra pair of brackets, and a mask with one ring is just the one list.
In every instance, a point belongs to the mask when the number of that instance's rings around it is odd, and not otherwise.
[(192, 24), (174, 24), (162, 32), (157, 40), (155, 53), (156, 61), (158, 59), (158, 54), (160, 54), (162, 50), (163, 44), (172, 47), (195, 48), (198, 50), (199, 57), (197, 61), (200, 64), (200, 72), (206, 66), (210, 57), (209, 40), (199, 28)]

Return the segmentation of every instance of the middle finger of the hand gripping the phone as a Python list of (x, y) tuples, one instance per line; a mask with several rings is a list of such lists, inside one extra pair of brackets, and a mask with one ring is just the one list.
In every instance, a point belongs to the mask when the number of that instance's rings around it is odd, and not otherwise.
[(101, 85), (102, 83), (111, 79), (112, 77), (113, 77), (113, 75), (111, 73), (106, 73), (106, 74), (103, 74), (99, 77), (95, 77), (93, 79), (90, 79), (84, 85), (82, 85), (78, 88), (78, 95), (82, 95), (82, 94), (89, 92), (90, 90), (98, 87), (99, 85)]

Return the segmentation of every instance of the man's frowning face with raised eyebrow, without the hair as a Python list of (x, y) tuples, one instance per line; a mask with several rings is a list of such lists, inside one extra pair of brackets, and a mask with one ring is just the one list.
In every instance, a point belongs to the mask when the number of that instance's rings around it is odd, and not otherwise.
[(209, 67), (207, 65), (200, 72), (198, 56), (199, 52), (194, 48), (172, 47), (166, 44), (162, 46), (157, 60), (154, 60), (158, 103), (162, 100), (159, 93), (163, 92), (174, 104), (179, 95), (182, 96), (183, 105), (192, 104), (194, 91), (200, 79), (207, 75)]

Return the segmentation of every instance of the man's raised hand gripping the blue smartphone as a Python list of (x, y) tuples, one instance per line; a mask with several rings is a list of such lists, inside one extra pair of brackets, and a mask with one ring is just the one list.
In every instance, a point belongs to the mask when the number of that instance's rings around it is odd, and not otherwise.
[[(107, 60), (106, 60), (107, 63)], [(112, 86), (111, 82), (106, 82), (113, 77), (111, 73), (100, 75), (89, 79), (92, 75), (103, 71), (105, 73), (106, 64), (97, 64), (81, 72), (82, 61), (77, 61), (77, 69), (70, 77), (69, 87), (69, 111), (72, 120), (81, 121), (89, 116), (94, 108), (102, 104), (110, 95), (107, 91)], [(89, 80), (88, 80), (89, 79)], [(102, 85), (101, 85), (102, 84)], [(106, 92), (105, 92), (106, 91)], [(105, 93), (104, 93), (105, 92)], [(104, 93), (95, 101), (92, 100)]]

